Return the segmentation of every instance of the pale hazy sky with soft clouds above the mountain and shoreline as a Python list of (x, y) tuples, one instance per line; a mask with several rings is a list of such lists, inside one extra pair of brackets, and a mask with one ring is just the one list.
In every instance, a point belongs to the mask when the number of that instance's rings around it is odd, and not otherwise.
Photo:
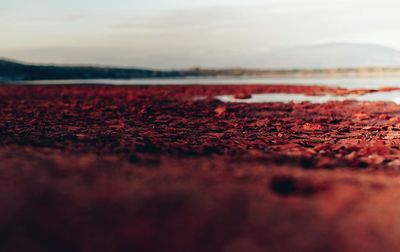
[(399, 10), (398, 0), (0, 0), (0, 57), (234, 67), (296, 45), (400, 49)]

